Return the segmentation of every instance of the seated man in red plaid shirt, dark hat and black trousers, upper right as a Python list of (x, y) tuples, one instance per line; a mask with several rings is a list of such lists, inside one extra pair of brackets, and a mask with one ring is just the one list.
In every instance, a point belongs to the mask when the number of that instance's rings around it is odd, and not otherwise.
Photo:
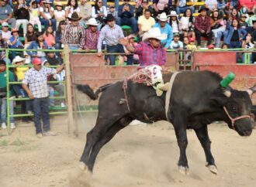
[(195, 18), (195, 38), (197, 45), (201, 46), (201, 36), (207, 37), (207, 45), (211, 43), (213, 39), (213, 32), (211, 32), (210, 18), (206, 15), (208, 8), (201, 6), (199, 9), (199, 15)]

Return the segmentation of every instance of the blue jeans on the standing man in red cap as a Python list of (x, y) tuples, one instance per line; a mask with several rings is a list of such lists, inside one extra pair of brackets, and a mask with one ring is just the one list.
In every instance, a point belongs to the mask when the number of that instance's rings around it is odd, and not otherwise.
[(34, 123), (36, 134), (42, 133), (41, 116), (43, 118), (43, 131), (50, 130), (50, 115), (49, 115), (49, 97), (34, 98)]

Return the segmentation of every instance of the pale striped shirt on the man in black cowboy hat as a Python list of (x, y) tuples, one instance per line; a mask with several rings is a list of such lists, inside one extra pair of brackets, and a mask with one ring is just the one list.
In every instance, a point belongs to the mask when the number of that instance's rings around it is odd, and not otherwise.
[(99, 34), (98, 52), (102, 51), (103, 40), (106, 41), (108, 46), (116, 46), (119, 43), (119, 39), (123, 37), (123, 30), (116, 24), (113, 28), (110, 28), (109, 25), (104, 26)]

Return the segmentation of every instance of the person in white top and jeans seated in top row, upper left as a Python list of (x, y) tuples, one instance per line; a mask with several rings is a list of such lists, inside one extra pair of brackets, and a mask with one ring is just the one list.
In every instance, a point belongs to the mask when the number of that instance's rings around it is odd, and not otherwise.
[(53, 26), (56, 31), (56, 19), (54, 19), (54, 8), (50, 6), (52, 2), (50, 0), (43, 0), (43, 6), (39, 8), (40, 11), (40, 22), (45, 28)]

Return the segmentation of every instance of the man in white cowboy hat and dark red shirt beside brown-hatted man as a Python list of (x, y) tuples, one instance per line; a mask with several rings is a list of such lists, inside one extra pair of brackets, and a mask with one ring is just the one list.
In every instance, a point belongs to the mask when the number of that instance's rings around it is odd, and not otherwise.
[(97, 30), (97, 26), (99, 26), (99, 22), (96, 19), (91, 18), (86, 22), (86, 26), (88, 29), (85, 30), (85, 46), (84, 49), (89, 52), (90, 50), (97, 49), (98, 39), (99, 39), (99, 31)]

